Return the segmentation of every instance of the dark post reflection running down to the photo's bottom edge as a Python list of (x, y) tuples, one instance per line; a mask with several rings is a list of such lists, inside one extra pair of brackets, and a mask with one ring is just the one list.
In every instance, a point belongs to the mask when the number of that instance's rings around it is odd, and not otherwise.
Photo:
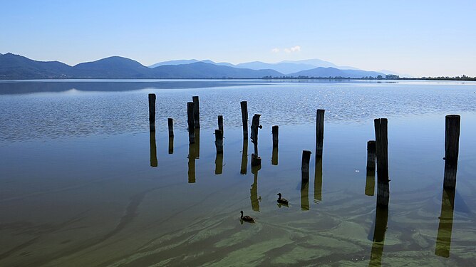
[(373, 229), (373, 244), (371, 261), (368, 266), (381, 266), (383, 245), (388, 223), (388, 207), (377, 206), (375, 228)]

